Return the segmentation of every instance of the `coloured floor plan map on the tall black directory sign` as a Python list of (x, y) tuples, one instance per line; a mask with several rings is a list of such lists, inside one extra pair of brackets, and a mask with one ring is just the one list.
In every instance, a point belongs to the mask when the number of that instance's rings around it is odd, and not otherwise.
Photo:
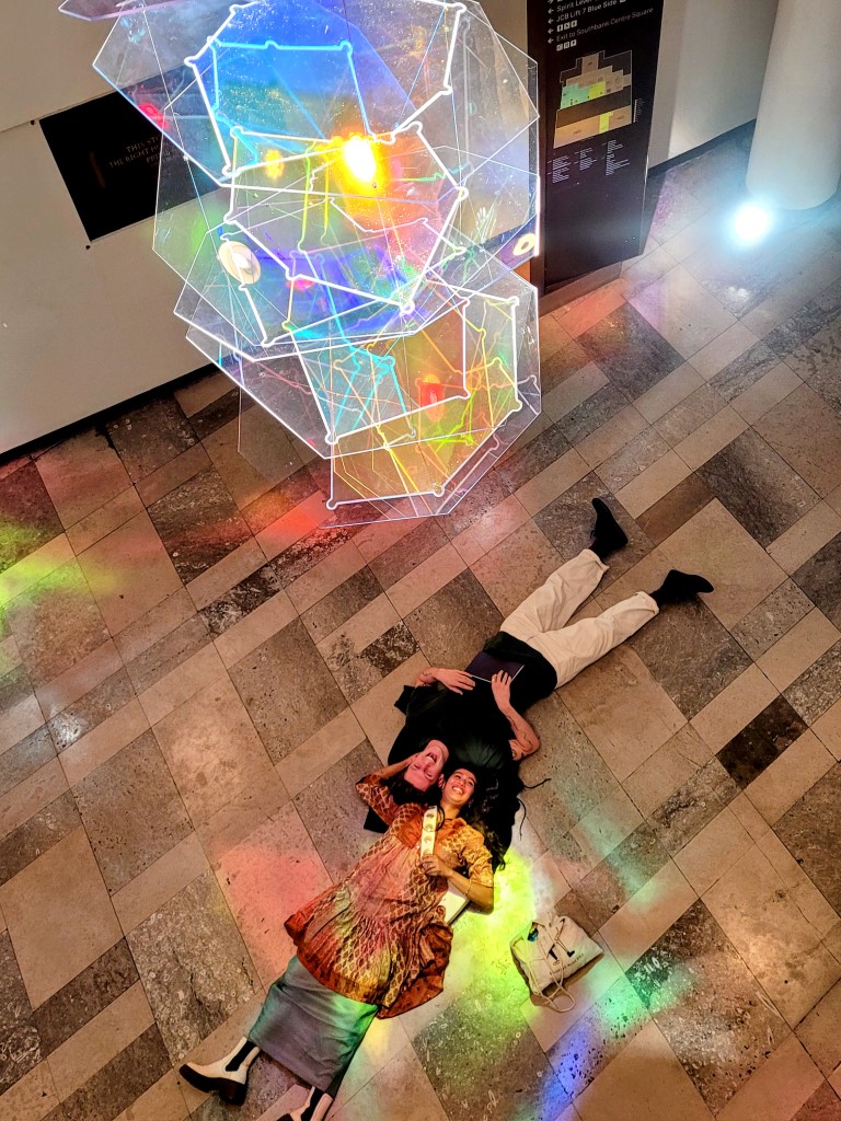
[(631, 52), (604, 52), (575, 59), (561, 74), (561, 108), (555, 117), (555, 148), (623, 128), (634, 120)]

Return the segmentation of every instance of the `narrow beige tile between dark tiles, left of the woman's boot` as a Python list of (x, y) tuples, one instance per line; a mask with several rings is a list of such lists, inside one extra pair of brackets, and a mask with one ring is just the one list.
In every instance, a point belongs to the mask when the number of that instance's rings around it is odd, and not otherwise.
[(70, 1097), (154, 1022), (144, 986), (136, 981), (49, 1056), (58, 1096)]

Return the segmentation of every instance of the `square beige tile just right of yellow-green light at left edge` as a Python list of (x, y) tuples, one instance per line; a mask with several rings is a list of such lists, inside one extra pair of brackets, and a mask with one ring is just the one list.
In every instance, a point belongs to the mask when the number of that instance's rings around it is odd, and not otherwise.
[(78, 563), (112, 634), (182, 586), (147, 513), (85, 549)]

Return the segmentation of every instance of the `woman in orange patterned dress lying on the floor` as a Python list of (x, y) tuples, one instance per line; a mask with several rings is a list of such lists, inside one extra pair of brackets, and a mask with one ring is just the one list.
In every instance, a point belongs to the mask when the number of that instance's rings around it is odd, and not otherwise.
[[(502, 851), (481, 819), (493, 793), (482, 776), (453, 767), (424, 799), (428, 812), (418, 800), (397, 805), (387, 781), (406, 767), (400, 761), (357, 784), (387, 823), (386, 835), (343, 880), (286, 920), (297, 955), (269, 989), (247, 1038), (215, 1063), (181, 1067), (192, 1086), (241, 1104), (262, 1050), (313, 1087), (306, 1104), (280, 1121), (322, 1121), (372, 1019), (441, 992), (452, 942), (442, 906), (447, 886), (481, 909), (493, 907), (493, 867)], [(434, 846), (422, 854), (424, 832)]]

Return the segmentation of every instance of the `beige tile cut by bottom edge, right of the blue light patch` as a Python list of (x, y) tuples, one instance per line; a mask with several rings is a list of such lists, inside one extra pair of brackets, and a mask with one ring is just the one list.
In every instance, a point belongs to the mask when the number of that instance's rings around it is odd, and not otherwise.
[(663, 1034), (646, 1023), (575, 1100), (582, 1121), (712, 1121)]

